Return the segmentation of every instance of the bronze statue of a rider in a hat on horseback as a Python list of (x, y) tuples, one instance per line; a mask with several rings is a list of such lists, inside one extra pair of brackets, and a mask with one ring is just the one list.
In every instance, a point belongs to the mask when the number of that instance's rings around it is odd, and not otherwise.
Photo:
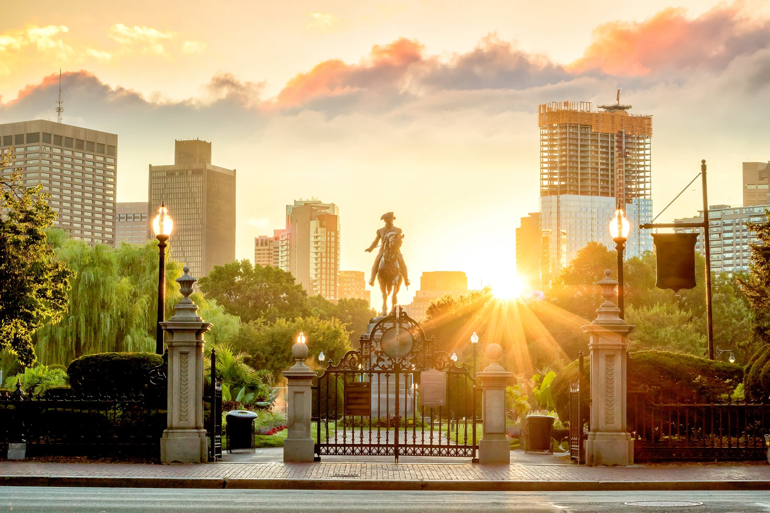
[(377, 248), (377, 243), (380, 243), (380, 252), (377, 253), (377, 258), (374, 258), (369, 285), (374, 285), (374, 278), (377, 278), (380, 283), (380, 291), (383, 293), (382, 315), (388, 315), (387, 297), (392, 293), (390, 302), (393, 308), (390, 310), (390, 315), (393, 315), (396, 313), (396, 296), (401, 288), (401, 283), (405, 283), (408, 287), (410, 281), (407, 265), (403, 262), (403, 255), (401, 255), (403, 233), (401, 228), (393, 226), (396, 216), (393, 215), (393, 212), (388, 212), (380, 219), (385, 222), (385, 226), (377, 230), (377, 237), (374, 238), (374, 242), (364, 251), (372, 252), (374, 248)]

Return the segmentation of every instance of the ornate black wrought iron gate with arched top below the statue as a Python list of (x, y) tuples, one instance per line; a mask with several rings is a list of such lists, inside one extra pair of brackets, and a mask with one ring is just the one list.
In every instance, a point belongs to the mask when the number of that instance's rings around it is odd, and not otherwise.
[(477, 458), (474, 371), (403, 312), (373, 319), (313, 385), (316, 461), (325, 455)]

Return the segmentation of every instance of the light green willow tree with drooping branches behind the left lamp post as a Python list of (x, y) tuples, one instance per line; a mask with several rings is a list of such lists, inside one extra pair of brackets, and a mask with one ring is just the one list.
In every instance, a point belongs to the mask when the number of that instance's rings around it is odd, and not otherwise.
[[(144, 245), (86, 245), (59, 235), (59, 259), (77, 271), (71, 280), (69, 313), (42, 328), (35, 352), (45, 364), (69, 365), (82, 355), (106, 351), (154, 351), (158, 295), (158, 248)], [(166, 314), (179, 301), (182, 274), (166, 261)]]

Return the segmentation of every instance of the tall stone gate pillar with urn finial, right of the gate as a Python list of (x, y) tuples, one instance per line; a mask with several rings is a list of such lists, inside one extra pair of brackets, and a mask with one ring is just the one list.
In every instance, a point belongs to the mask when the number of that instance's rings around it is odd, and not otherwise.
[(626, 429), (626, 348), (634, 326), (620, 318), (620, 308), (611, 301), (618, 281), (610, 278), (609, 270), (598, 285), (604, 303), (596, 320), (583, 326), (591, 337), (591, 425), (585, 459), (593, 466), (631, 465), (634, 441)]

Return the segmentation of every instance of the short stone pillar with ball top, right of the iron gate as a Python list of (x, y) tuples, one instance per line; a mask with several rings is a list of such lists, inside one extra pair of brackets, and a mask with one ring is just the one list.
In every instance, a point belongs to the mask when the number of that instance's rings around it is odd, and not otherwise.
[(477, 373), (483, 391), (481, 409), (484, 434), (479, 441), (479, 463), (507, 465), (511, 463), (511, 445), (505, 436), (505, 388), (513, 372), (506, 372), (497, 363), (503, 355), (498, 344), (487, 345), (487, 368)]

